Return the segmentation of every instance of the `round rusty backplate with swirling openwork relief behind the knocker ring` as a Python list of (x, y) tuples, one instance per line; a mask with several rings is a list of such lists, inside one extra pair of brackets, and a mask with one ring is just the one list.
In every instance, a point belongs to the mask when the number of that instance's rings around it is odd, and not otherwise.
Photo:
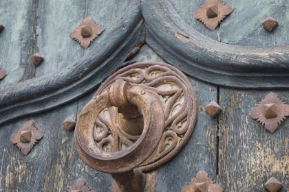
[[(140, 62), (111, 75), (94, 96), (106, 91), (117, 79), (158, 93), (165, 115), (162, 139), (156, 150), (138, 168), (151, 171), (171, 160), (189, 140), (197, 119), (197, 97), (188, 78), (180, 70), (161, 62)], [(120, 129), (115, 107), (105, 108), (96, 119), (94, 139), (104, 151), (127, 149), (138, 140)]]

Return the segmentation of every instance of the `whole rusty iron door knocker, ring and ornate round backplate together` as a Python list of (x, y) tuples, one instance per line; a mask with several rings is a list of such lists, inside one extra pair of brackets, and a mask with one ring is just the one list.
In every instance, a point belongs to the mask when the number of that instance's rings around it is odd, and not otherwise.
[(115, 175), (171, 160), (196, 118), (195, 91), (181, 71), (160, 62), (131, 64), (111, 75), (83, 108), (75, 145), (90, 167), (122, 178)]

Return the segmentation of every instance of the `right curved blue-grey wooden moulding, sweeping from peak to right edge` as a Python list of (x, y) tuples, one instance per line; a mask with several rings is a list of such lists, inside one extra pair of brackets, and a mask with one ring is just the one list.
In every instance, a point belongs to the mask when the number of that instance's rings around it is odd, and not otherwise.
[(288, 46), (228, 45), (186, 24), (165, 0), (142, 1), (146, 42), (170, 64), (188, 75), (221, 86), (287, 88)]

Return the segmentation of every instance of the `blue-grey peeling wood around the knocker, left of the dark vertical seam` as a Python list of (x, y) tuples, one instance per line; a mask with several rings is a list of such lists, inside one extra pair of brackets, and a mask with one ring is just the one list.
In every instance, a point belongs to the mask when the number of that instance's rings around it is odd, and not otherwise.
[[(162, 61), (147, 45), (131, 58), (137, 62)], [(156, 191), (181, 191), (197, 171), (206, 169), (216, 179), (217, 119), (211, 119), (204, 111), (209, 101), (217, 99), (216, 86), (190, 80), (195, 87), (200, 104), (197, 124), (191, 139), (184, 149), (169, 163), (156, 170)], [(95, 91), (95, 90), (94, 90)], [(6, 123), (0, 128), (1, 168), (0, 189), (3, 191), (65, 191), (76, 179), (82, 177), (89, 187), (98, 192), (107, 192), (111, 176), (96, 171), (83, 163), (74, 148), (73, 132), (67, 132), (63, 121), (80, 112), (94, 95), (88, 93), (78, 101), (38, 115)], [(45, 136), (34, 146), (28, 156), (10, 143), (10, 137), (25, 121), (33, 119)], [(174, 173), (171, 174), (171, 171)]]

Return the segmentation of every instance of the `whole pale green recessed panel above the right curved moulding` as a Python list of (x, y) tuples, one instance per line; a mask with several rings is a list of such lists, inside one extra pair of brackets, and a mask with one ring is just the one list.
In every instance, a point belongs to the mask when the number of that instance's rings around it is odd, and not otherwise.
[[(223, 2), (230, 5), (234, 11), (213, 32), (193, 17), (195, 10), (206, 0), (170, 1), (186, 23), (198, 32), (222, 43), (252, 46), (289, 44), (289, 25), (287, 25), (289, 5), (285, 0), (224, 0)], [(279, 21), (279, 27), (273, 32), (267, 32), (261, 25), (268, 16)]]

